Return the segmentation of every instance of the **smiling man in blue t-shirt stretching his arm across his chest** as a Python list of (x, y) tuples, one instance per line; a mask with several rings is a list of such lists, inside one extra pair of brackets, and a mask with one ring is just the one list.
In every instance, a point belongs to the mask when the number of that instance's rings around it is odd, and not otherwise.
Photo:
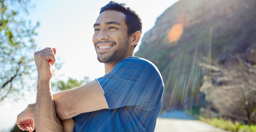
[(93, 43), (98, 60), (105, 63), (105, 75), (52, 96), (56, 49), (35, 52), (37, 99), (18, 115), (20, 129), (154, 131), (164, 84), (153, 63), (133, 57), (141, 37), (140, 17), (125, 4), (111, 1), (101, 8), (93, 27)]

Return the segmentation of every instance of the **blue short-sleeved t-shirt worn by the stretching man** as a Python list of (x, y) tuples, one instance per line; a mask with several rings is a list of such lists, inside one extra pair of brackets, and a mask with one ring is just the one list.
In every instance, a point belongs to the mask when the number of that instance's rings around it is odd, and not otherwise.
[(72, 119), (73, 132), (153, 132), (161, 110), (164, 84), (156, 66), (138, 57), (119, 61), (96, 79), (109, 109), (82, 113)]

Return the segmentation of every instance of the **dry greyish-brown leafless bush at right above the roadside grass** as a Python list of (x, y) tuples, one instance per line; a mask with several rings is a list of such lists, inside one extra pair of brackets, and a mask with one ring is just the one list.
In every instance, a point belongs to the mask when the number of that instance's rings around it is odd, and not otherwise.
[(205, 75), (200, 87), (206, 100), (218, 109), (220, 116), (255, 124), (256, 69), (239, 54), (230, 54), (229, 62), (211, 65), (211, 69), (211, 76)]

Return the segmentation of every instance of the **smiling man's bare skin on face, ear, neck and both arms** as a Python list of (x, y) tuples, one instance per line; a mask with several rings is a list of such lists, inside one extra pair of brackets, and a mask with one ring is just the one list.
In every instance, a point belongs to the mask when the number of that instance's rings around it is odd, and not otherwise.
[[(114, 60), (105, 63), (105, 74), (108, 74), (120, 60), (132, 56), (134, 45), (140, 40), (139, 31), (127, 37), (127, 26), (124, 19), (123, 13), (106, 10), (99, 15), (94, 24), (93, 44), (99, 59), (112, 56), (115, 50), (122, 49), (124, 40), (127, 40), (128, 43), (125, 52)], [(114, 41), (116, 45), (105, 41)], [(107, 45), (112, 46), (106, 49), (99, 48), (99, 46)], [(103, 52), (106, 53), (101, 54)], [(71, 132), (74, 128), (74, 121), (71, 117), (85, 112), (108, 109), (104, 94), (96, 80), (75, 89), (52, 95), (50, 80), (54, 73), (55, 53), (56, 49), (54, 48), (45, 48), (35, 53), (39, 74), (37, 100), (35, 104), (28, 105), (17, 116), (17, 125), (21, 130), (32, 132), (36, 128), (37, 131), (64, 130)]]

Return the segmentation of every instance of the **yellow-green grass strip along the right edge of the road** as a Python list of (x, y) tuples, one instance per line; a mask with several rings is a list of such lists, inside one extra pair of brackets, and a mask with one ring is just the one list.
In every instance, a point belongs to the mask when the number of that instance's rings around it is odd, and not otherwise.
[(224, 120), (222, 118), (211, 119), (202, 116), (200, 116), (199, 120), (232, 132), (256, 132), (256, 125), (243, 125), (237, 121), (232, 122), (231, 120)]

